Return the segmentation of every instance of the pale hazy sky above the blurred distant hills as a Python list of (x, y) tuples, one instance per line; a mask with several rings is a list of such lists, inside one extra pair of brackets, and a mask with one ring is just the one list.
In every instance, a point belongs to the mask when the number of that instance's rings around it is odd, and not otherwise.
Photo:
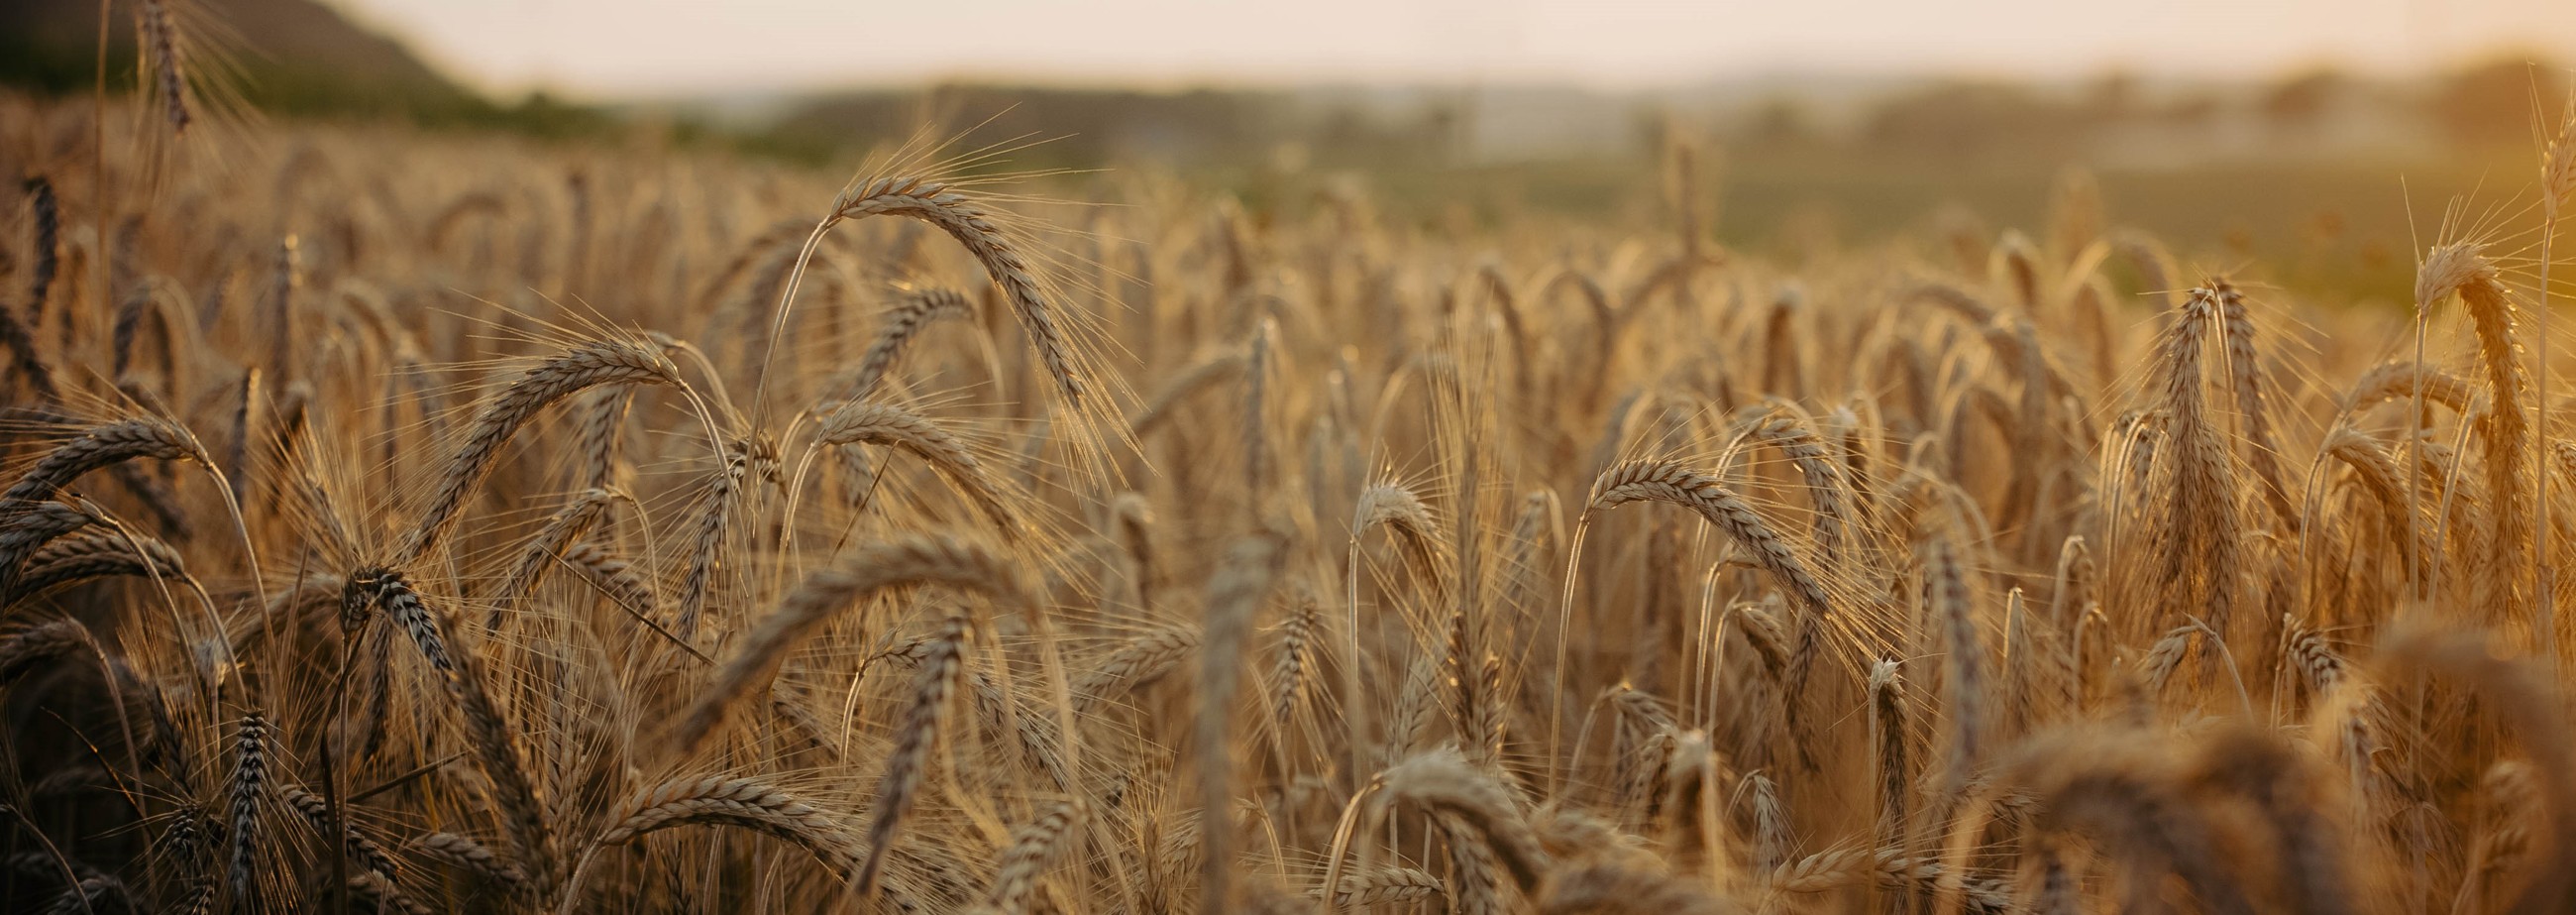
[(1674, 85), (1772, 70), (2272, 75), (2576, 62), (2576, 0), (330, 0), (497, 90), (940, 77)]

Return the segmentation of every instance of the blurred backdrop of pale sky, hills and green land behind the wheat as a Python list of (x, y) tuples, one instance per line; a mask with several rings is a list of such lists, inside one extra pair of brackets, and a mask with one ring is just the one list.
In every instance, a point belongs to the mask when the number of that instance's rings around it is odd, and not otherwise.
[[(827, 170), (989, 119), (1046, 139), (1010, 168), (1170, 173), (1257, 219), (1355, 186), (1427, 227), (1610, 224), (1672, 219), (1682, 186), (1780, 258), (2099, 193), (2352, 294), (2406, 289), (2445, 204), (2530, 198), (2576, 64), (2571, 0), (170, 3), (229, 31), (268, 119)], [(98, 28), (0, 0), (0, 82), (88, 93)]]

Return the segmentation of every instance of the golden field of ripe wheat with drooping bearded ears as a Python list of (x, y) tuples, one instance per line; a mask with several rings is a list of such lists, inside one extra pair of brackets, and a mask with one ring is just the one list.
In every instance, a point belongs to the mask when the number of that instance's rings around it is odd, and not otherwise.
[(2081, 183), (1790, 265), (113, 111), (0, 98), (10, 910), (2576, 900), (2576, 137), (2406, 314)]

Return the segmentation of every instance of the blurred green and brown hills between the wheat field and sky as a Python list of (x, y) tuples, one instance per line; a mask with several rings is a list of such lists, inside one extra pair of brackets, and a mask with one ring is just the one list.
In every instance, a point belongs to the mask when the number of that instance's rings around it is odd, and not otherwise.
[[(1025, 137), (1012, 168), (1162, 170), (1249, 214), (1368, 186), (1388, 217), (1486, 227), (1522, 214), (1584, 224), (1669, 219), (1649, 162), (1708, 149), (1695, 180), (1710, 235), (1777, 255), (1929, 229), (1976, 211), (2035, 222), (2069, 168), (2138, 222), (2210, 258), (2262, 258), (2300, 286), (2396, 302), (2424, 227), (2409, 204), (2512, 188), (2535, 144), (2535, 98), (2568, 72), (2496, 57), (2424, 80), (2311, 70), (2269, 82), (2102, 75), (1844, 80), (1816, 75), (1651, 93), (1569, 88), (1030, 88), (938, 82), (765, 106), (701, 101), (492, 101), (399, 41), (314, 0), (198, 0), (229, 31), (247, 101), (291, 119), (402, 119), (577, 142), (641, 139), (840, 168), (914, 134)], [(134, 75), (131, 5), (116, 3), (111, 88)], [(0, 0), (0, 82), (41, 95), (95, 82), (98, 8)], [(1862, 82), (1862, 85), (1855, 85)], [(1084, 178), (1054, 191), (1092, 196)], [(2473, 198), (2473, 206), (2483, 201)], [(2213, 219), (2210, 214), (2226, 214)]]

